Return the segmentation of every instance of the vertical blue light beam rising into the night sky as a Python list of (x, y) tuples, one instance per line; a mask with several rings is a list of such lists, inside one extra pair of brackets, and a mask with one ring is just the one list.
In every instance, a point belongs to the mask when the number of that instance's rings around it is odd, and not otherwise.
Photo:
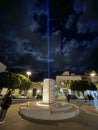
[(50, 78), (50, 3), (49, 0), (47, 0), (47, 52), (48, 52), (48, 78)]

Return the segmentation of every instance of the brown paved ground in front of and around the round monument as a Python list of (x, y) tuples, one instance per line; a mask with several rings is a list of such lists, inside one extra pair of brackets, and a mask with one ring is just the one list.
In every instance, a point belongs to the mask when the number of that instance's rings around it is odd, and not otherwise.
[(98, 115), (80, 110), (79, 115), (63, 121), (27, 121), (19, 114), (20, 103), (13, 104), (5, 117), (0, 130), (98, 130)]

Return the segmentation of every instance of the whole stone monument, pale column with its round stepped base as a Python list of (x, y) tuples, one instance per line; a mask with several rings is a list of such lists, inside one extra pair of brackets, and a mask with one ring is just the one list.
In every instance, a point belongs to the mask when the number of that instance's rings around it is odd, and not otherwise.
[(55, 99), (54, 79), (43, 80), (42, 101), (21, 104), (19, 114), (27, 120), (63, 120), (79, 114), (79, 108), (65, 101)]

